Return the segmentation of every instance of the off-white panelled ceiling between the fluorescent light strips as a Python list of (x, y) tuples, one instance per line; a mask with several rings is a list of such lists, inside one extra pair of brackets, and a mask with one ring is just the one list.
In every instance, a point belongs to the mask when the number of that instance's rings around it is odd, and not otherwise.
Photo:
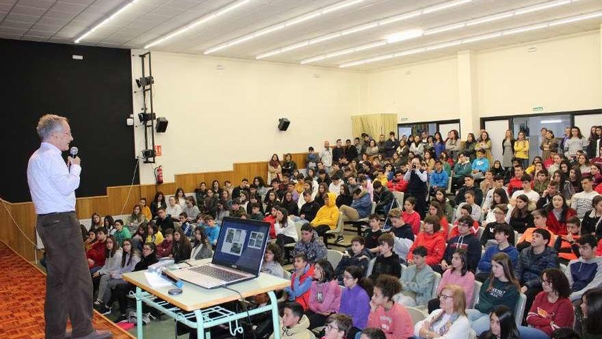
[[(153, 51), (202, 54), (228, 40), (233, 40), (296, 16), (319, 10), (341, 0), (250, 0), (231, 12), (190, 29), (179, 36), (161, 42)], [(405, 29), (430, 29), (458, 23), (490, 14), (515, 10), (549, 0), (473, 0), (447, 10), (423, 14), (406, 21), (391, 23), (384, 27), (349, 34), (341, 38), (319, 42), (314, 45), (272, 55), (263, 60), (299, 64), (301, 60), (316, 55), (348, 49), (358, 45), (383, 40), (385, 36)], [(239, 45), (228, 47), (211, 55), (232, 58), (255, 59), (261, 53), (292, 45), (324, 34), (348, 29), (363, 23), (395, 16), (443, 3), (445, 0), (366, 0), (344, 10), (323, 14), (309, 21), (265, 34)], [(0, 38), (35, 40), (43, 42), (73, 43), (75, 38), (86, 33), (104, 18), (125, 5), (124, 0), (0, 0)], [(138, 0), (118, 16), (96, 29), (82, 45), (141, 49), (157, 38), (194, 22), (233, 0)], [(502, 29), (523, 27), (558, 18), (586, 14), (602, 10), (600, 0), (579, 0), (547, 10), (504, 18), (492, 23), (483, 23), (450, 32), (422, 36), (412, 40), (384, 45), (348, 55), (340, 55), (311, 64), (339, 67), (343, 62), (352, 62), (378, 55), (434, 45), (458, 38), (466, 38), (497, 32)], [(416, 55), (382, 60), (370, 64), (350, 67), (352, 69), (376, 70), (379, 68), (407, 64), (421, 60), (454, 55), (461, 49), (482, 50), (523, 42), (554, 38), (579, 32), (599, 29), (602, 17), (569, 23), (532, 32), (513, 34), (470, 45), (448, 47)]]

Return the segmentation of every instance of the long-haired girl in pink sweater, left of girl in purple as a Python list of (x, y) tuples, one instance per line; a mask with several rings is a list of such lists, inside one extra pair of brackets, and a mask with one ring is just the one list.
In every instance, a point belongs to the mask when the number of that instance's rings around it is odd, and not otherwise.
[(337, 313), (341, 305), (341, 288), (335, 268), (328, 259), (314, 264), (313, 281), (309, 288), (309, 305), (305, 315), (309, 318), (309, 329), (324, 326), (330, 314)]

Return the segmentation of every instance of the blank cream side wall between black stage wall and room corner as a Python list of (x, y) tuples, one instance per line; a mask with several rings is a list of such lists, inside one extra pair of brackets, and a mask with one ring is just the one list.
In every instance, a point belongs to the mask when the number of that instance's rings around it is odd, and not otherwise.
[[(165, 181), (351, 137), (361, 73), (175, 53), (153, 52), (152, 58), (154, 109), (169, 120), (167, 133), (155, 134), (163, 156), (153, 166), (164, 165)], [(138, 57), (133, 74), (140, 77)], [(141, 107), (135, 93), (134, 112)], [(291, 121), (288, 131), (278, 131), (280, 117)], [(135, 142), (140, 152), (142, 127), (135, 129)], [(142, 166), (142, 184), (154, 181), (153, 166)]]

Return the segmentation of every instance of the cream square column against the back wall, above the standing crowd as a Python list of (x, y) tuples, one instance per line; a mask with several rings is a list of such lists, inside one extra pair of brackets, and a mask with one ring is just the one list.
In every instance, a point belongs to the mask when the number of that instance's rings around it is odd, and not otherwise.
[(461, 138), (480, 129), (477, 65), (474, 51), (458, 52), (458, 101)]

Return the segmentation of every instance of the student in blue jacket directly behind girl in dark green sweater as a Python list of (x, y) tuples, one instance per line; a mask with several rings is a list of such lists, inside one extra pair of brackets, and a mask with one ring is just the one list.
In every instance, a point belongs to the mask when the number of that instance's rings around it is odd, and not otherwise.
[(481, 282), (485, 281), (491, 273), (491, 258), (493, 258), (493, 255), (500, 252), (506, 253), (512, 262), (512, 267), (516, 267), (516, 262), (519, 260), (519, 251), (510, 244), (510, 235), (514, 236), (514, 231), (508, 224), (496, 225), (491, 233), (497, 245), (488, 246), (481, 260), (479, 260), (476, 279)]

